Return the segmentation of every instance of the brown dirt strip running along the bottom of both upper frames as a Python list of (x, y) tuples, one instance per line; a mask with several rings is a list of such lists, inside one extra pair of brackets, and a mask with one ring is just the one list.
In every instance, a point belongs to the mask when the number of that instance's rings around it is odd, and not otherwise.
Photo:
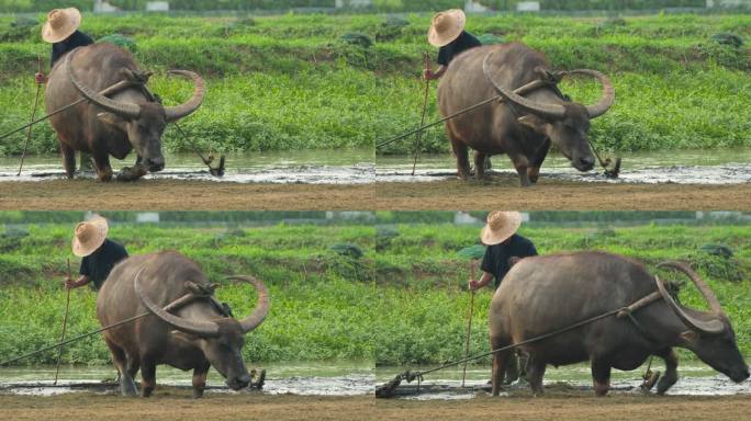
[(144, 180), (0, 183), (0, 208), (13, 210), (336, 210), (336, 209), (649, 209), (748, 210), (751, 183), (732, 185), (595, 184), (542, 181), (519, 189), (491, 183), (380, 183), (374, 185), (236, 184)]

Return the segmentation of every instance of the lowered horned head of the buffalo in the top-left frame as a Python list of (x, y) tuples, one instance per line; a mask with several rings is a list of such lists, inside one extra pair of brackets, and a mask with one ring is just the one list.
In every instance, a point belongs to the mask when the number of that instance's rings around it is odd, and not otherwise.
[[(161, 135), (167, 123), (186, 117), (201, 106), (205, 93), (203, 79), (198, 73), (188, 70), (169, 71), (170, 75), (189, 78), (194, 83), (193, 96), (178, 106), (162, 106), (157, 102), (148, 101), (119, 102), (101, 95), (78, 79), (71, 65), (75, 53), (71, 52), (66, 57), (66, 71), (70, 82), (81, 95), (105, 110), (97, 114), (97, 118), (127, 135), (143, 168), (152, 172), (161, 171), (165, 168), (165, 158), (161, 152)], [(127, 72), (125, 69), (124, 71)]]

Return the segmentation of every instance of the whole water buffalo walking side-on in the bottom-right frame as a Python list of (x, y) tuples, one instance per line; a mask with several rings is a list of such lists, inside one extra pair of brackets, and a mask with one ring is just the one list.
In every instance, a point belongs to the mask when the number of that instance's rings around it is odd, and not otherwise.
[[(687, 265), (662, 263), (685, 273), (709, 304), (709, 311), (675, 301), (665, 285), (639, 262), (604, 252), (527, 258), (504, 277), (490, 305), (490, 338), (494, 350), (565, 328), (587, 318), (629, 306), (659, 291), (653, 303), (628, 317), (607, 318), (522, 345), (529, 354), (527, 379), (542, 394), (548, 364), (590, 361), (594, 390), (609, 389), (610, 369), (636, 369), (650, 355), (665, 361), (658, 383), (664, 394), (677, 380), (673, 346), (693, 351), (733, 382), (749, 377), (749, 366), (736, 344), (730, 320), (704, 281)], [(493, 395), (497, 396), (511, 351), (493, 355)]]

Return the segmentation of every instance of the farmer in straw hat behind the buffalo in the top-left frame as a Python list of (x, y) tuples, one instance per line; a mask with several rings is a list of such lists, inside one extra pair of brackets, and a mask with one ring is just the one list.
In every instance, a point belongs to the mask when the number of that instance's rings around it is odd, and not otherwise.
[[(47, 22), (42, 27), (42, 39), (53, 45), (51, 68), (66, 53), (94, 43), (89, 35), (78, 31), (80, 25), (81, 12), (76, 8), (55, 9), (47, 14)], [(47, 82), (47, 76), (41, 71), (35, 79), (36, 83)]]

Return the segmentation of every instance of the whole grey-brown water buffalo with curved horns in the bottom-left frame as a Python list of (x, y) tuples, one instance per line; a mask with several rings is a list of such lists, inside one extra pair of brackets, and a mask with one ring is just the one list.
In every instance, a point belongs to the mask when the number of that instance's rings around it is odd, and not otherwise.
[(221, 306), (210, 298), (186, 305), (175, 314), (162, 309), (184, 296), (191, 285), (213, 291), (199, 266), (178, 252), (132, 257), (112, 270), (97, 298), (100, 323), (109, 326), (153, 312), (104, 332), (104, 341), (120, 372), (123, 395), (136, 395), (133, 377), (141, 368), (142, 395), (148, 397), (156, 386), (158, 364), (193, 369), (195, 398), (203, 395), (212, 365), (226, 378), (229, 388), (238, 390), (248, 386), (250, 376), (243, 362), (243, 335), (264, 321), (269, 311), (269, 297), (259, 281), (249, 276), (235, 278), (249, 282), (258, 291), (255, 310), (239, 321), (225, 316)]

